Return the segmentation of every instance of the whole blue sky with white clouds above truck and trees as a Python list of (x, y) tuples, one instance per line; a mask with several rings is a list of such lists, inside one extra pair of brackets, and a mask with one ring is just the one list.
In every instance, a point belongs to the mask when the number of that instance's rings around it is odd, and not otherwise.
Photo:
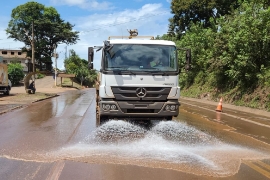
[[(12, 9), (25, 4), (27, 0), (10, 0), (1, 3), (0, 49), (17, 50), (22, 42), (8, 38), (5, 29), (11, 19)], [(142, 36), (162, 36), (168, 31), (171, 0), (37, 0), (46, 7), (54, 7), (61, 18), (75, 25), (79, 31), (76, 44), (59, 44), (57, 68), (64, 70), (64, 59), (73, 49), (80, 58), (88, 59), (88, 47), (101, 46), (109, 36), (128, 36), (127, 30), (138, 29)], [(95, 53), (94, 68), (100, 69), (100, 53)], [(53, 59), (53, 66), (55, 62)]]

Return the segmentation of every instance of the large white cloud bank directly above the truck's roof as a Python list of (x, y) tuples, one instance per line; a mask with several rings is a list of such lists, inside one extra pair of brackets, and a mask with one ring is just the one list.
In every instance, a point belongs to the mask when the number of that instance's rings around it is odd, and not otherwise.
[[(170, 10), (161, 4), (146, 4), (137, 10), (123, 10), (112, 14), (93, 14), (73, 19), (80, 31), (80, 41), (68, 49), (74, 49), (81, 58), (87, 59), (90, 46), (102, 45), (109, 36), (127, 36), (127, 29), (138, 29), (139, 35), (163, 35), (168, 30)], [(100, 53), (94, 57), (94, 68), (100, 68)]]

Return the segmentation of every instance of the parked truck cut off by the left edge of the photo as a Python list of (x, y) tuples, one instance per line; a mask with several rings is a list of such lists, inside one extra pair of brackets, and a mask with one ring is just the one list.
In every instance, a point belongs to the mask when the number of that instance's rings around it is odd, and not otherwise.
[(8, 79), (7, 65), (0, 63), (0, 92), (5, 95), (9, 95), (11, 86), (11, 82)]

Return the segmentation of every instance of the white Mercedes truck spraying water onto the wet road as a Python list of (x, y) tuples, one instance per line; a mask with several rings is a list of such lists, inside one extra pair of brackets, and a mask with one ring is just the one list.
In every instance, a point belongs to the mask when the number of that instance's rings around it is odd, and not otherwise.
[[(109, 119), (172, 120), (178, 115), (180, 68), (174, 42), (134, 34), (109, 37), (103, 46), (88, 48), (89, 68), (94, 49), (102, 50), (97, 125)], [(181, 49), (189, 68), (190, 49)]]

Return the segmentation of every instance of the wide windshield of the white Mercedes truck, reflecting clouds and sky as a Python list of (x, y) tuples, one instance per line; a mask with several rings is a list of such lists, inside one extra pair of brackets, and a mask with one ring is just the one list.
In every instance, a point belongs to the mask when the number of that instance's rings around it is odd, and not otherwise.
[(114, 44), (105, 51), (104, 70), (176, 72), (176, 47), (149, 44)]

